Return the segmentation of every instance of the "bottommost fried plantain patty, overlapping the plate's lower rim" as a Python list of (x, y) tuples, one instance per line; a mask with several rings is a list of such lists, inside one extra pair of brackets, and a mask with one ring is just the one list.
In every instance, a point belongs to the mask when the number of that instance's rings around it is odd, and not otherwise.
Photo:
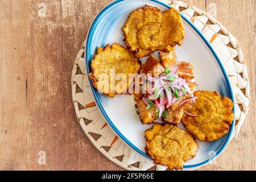
[(154, 163), (168, 166), (169, 169), (182, 169), (185, 161), (192, 159), (198, 144), (187, 131), (170, 123), (155, 123), (145, 131), (148, 155)]

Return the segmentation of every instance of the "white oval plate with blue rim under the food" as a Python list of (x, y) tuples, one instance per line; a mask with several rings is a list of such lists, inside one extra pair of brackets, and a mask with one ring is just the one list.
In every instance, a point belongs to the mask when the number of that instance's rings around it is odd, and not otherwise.
[[(170, 5), (157, 0), (118, 0), (110, 3), (96, 16), (86, 40), (85, 62), (88, 73), (91, 71), (90, 61), (93, 59), (98, 46), (105, 47), (106, 44), (113, 44), (114, 42), (125, 46), (121, 28), (131, 11), (146, 4), (156, 6), (160, 10), (170, 8)], [(189, 61), (195, 67), (195, 79), (199, 84), (197, 90), (217, 91), (222, 96), (231, 98), (234, 102), (228, 76), (216, 52), (193, 23), (184, 15), (181, 14), (181, 16), (185, 27), (185, 39), (182, 46), (176, 46), (177, 59)], [(143, 61), (144, 58), (141, 60)], [(121, 95), (111, 99), (99, 94), (92, 85), (90, 86), (101, 113), (115, 134), (139, 154), (150, 159), (144, 152), (144, 131), (151, 128), (152, 125), (142, 125), (135, 112), (133, 96)], [(178, 126), (184, 129), (181, 123)], [(214, 142), (197, 140), (199, 150), (195, 158), (185, 162), (183, 167), (200, 167), (216, 158), (228, 144), (233, 128), (234, 122), (229, 133)]]

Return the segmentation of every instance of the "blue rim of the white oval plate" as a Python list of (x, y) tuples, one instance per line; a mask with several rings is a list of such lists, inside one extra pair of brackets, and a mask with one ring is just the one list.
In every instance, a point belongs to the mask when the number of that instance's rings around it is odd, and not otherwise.
[[(106, 7), (104, 7), (104, 9), (102, 9), (100, 11), (100, 13), (96, 16), (96, 18), (93, 20), (93, 23), (92, 23), (92, 26), (90, 27), (89, 29), (89, 33), (88, 33), (88, 36), (87, 36), (87, 39), (86, 39), (86, 55), (85, 55), (85, 64), (86, 63), (89, 63), (91, 59), (91, 55), (89, 55), (89, 52), (90, 52), (90, 46), (91, 46), (91, 39), (92, 39), (92, 35), (94, 33), (94, 30), (98, 24), (98, 21), (99, 19), (101, 18), (101, 15), (106, 11), (108, 10), (110, 7), (112, 7), (113, 5), (119, 3), (119, 2), (122, 2), (122, 1), (125, 1), (125, 0), (116, 0), (116, 1), (113, 1), (112, 3), (109, 3), (109, 5), (107, 5)], [(168, 5), (167, 3), (164, 3), (164, 2), (161, 2), (161, 1), (158, 1), (158, 0), (148, 0), (148, 1), (152, 1), (152, 2), (156, 2), (156, 3), (159, 3), (160, 5), (163, 5), (164, 7), (167, 7), (167, 8), (170, 8), (171, 6)], [(181, 14), (181, 17), (197, 32), (197, 34), (200, 35), (201, 39), (204, 40), (204, 42), (207, 44), (207, 46), (209, 47), (210, 51), (213, 53), (215, 59), (217, 60), (218, 64), (220, 65), (221, 67), (221, 71), (225, 77), (225, 81), (228, 85), (228, 90), (229, 90), (229, 95), (231, 97), (231, 100), (234, 102), (234, 94), (233, 94), (233, 90), (232, 90), (232, 86), (230, 84), (230, 81), (229, 81), (229, 78), (228, 78), (228, 74), (226, 73), (225, 71), (225, 68), (224, 66), (222, 65), (221, 63), (221, 60), (220, 58), (218, 57), (217, 53), (214, 51), (212, 45), (208, 42), (208, 40), (205, 38), (205, 36), (200, 32), (200, 30), (189, 20), (187, 19), (183, 14)], [(87, 73), (90, 72), (90, 65), (89, 64), (86, 64), (86, 71)], [(146, 157), (147, 159), (150, 159), (150, 156), (148, 156), (145, 152), (143, 152), (142, 150), (140, 150), (138, 147), (134, 146), (133, 143), (131, 143), (128, 139), (125, 138), (125, 136), (122, 135), (122, 133), (117, 129), (117, 127), (115, 127), (115, 125), (113, 124), (113, 122), (110, 120), (110, 118), (108, 117), (108, 115), (106, 114), (106, 111), (104, 110), (104, 108), (102, 107), (101, 105), (101, 102), (100, 102), (100, 99), (98, 97), (98, 93), (97, 93), (97, 90), (93, 88), (93, 85), (92, 85), (92, 82), (90, 82), (90, 88), (92, 88), (92, 92), (93, 92), (93, 96), (96, 100), (96, 103), (98, 105), (98, 107), (100, 108), (101, 110), (101, 113), (104, 115), (106, 121), (108, 122), (108, 124), (112, 127), (112, 129), (114, 130), (114, 132), (118, 135), (119, 138), (121, 138), (126, 144), (128, 144), (131, 148), (133, 148), (133, 150), (137, 151), (139, 154), (141, 154), (142, 156)], [(235, 106), (234, 106), (235, 107)], [(235, 108), (233, 107), (233, 112), (235, 113)], [(234, 121), (232, 122), (232, 125), (230, 126), (230, 130), (229, 130), (229, 133), (228, 133), (228, 136), (226, 137), (226, 140), (224, 142), (224, 144), (222, 144), (220, 150), (218, 150), (218, 152), (216, 152), (216, 155), (214, 155), (214, 157), (208, 159), (208, 160), (205, 160), (204, 162), (201, 162), (199, 164), (193, 164), (193, 165), (187, 165), (187, 166), (183, 166), (183, 168), (194, 168), (194, 167), (200, 167), (200, 166), (203, 166), (207, 163), (209, 163), (210, 161), (214, 160), (215, 158), (217, 158), (218, 155), (221, 154), (221, 152), (224, 150), (224, 148), (226, 147), (226, 145), (229, 143), (229, 139), (232, 135), (232, 132), (233, 132), (233, 129), (234, 129)]]

